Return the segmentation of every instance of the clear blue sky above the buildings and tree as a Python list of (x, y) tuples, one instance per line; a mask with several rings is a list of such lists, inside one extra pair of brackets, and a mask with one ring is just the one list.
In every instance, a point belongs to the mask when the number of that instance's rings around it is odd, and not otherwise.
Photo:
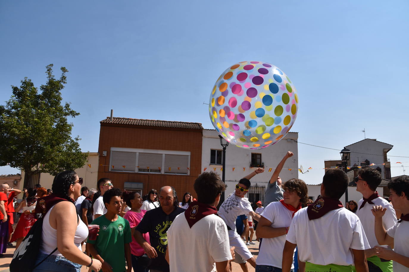
[[(219, 75), (236, 62), (268, 62), (297, 88), (291, 131), (299, 142), (341, 150), (364, 139), (365, 128), (367, 138), (393, 145), (392, 176), (409, 175), (408, 13), (407, 0), (3, 0), (0, 103), (24, 77), (39, 87), (47, 64), (56, 77), (65, 66), (63, 98), (81, 113), (72, 134), (83, 151), (97, 152), (99, 121), (110, 109), (213, 128), (203, 102)], [(337, 150), (298, 148), (304, 168), (340, 158)], [(17, 172), (0, 167), (0, 175)], [(323, 175), (299, 177), (318, 184)]]

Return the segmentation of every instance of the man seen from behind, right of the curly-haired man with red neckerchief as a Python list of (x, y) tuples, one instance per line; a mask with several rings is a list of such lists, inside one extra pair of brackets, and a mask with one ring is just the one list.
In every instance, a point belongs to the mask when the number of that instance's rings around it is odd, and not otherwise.
[(352, 272), (353, 265), (356, 272), (368, 272), (364, 250), (369, 244), (361, 221), (339, 201), (347, 186), (344, 171), (326, 171), (321, 196), (296, 212), (291, 221), (283, 250), (283, 272), (290, 272), (296, 246), (306, 272)]

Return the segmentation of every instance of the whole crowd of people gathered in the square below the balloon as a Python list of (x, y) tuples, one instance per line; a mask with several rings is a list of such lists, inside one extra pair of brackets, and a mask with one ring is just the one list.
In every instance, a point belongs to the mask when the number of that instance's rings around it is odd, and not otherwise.
[[(40, 214), (42, 242), (34, 272), (79, 272), (82, 265), (103, 272), (227, 272), (231, 261), (243, 271), (249, 263), (256, 272), (409, 271), (409, 179), (389, 183), (389, 203), (376, 192), (380, 173), (362, 168), (355, 178), (362, 199), (344, 207), (339, 199), (348, 177), (331, 168), (313, 201), (304, 181), (279, 177), (292, 155), (285, 154), (255, 210), (245, 196), (263, 168), (240, 179), (219, 209), (227, 186), (215, 172), (195, 180), (197, 199), (185, 192), (179, 201), (172, 186), (141, 196), (102, 178), (89, 189), (74, 171), (63, 171), (52, 191), (25, 190), (13, 233), (13, 198), (21, 191), (2, 184), (2, 252), (9, 241), (17, 241), (18, 248)], [(93, 228), (98, 235), (91, 235)], [(253, 234), (260, 241), (257, 258), (247, 247), (255, 244)]]

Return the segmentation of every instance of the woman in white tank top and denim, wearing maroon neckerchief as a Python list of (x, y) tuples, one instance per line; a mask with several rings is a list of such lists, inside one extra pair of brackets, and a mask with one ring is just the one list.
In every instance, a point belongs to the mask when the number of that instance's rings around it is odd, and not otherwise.
[(53, 193), (38, 199), (35, 212), (44, 217), (43, 239), (33, 272), (80, 272), (82, 265), (90, 271), (101, 269), (101, 262), (81, 249), (88, 228), (76, 212), (74, 199), (81, 195), (82, 183), (76, 172), (60, 172), (54, 177)]

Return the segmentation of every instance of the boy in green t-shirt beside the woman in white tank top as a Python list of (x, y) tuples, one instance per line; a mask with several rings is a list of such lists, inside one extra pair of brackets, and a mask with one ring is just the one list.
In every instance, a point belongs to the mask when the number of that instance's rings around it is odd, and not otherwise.
[(107, 212), (92, 221), (93, 225), (99, 225), (99, 232), (96, 240), (87, 241), (92, 257), (101, 261), (103, 272), (132, 271), (129, 222), (118, 215), (121, 211), (121, 194), (118, 188), (104, 193), (103, 202)]

